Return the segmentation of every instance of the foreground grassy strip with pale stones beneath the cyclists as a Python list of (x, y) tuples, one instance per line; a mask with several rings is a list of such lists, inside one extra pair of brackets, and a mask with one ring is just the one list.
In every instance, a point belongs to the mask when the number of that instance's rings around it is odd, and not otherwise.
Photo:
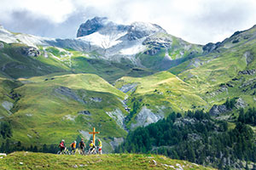
[(9, 169), (213, 169), (166, 156), (110, 154), (102, 156), (60, 156), (15, 152), (0, 159), (3, 170)]

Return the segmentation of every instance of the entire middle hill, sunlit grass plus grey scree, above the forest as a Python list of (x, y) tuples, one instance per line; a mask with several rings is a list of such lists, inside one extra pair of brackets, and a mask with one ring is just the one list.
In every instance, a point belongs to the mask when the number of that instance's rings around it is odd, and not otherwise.
[(172, 111), (207, 106), (193, 87), (167, 71), (148, 77), (122, 77), (115, 87), (129, 95), (127, 103), (132, 111), (126, 123), (131, 128), (157, 122)]

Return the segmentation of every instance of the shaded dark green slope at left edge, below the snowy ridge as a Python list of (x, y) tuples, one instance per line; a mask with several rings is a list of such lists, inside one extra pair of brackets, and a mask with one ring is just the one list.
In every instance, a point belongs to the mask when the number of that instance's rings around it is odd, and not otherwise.
[(4, 43), (4, 48), (0, 49), (0, 68), (5, 77), (34, 77), (42, 76), (53, 72), (68, 71), (66, 65), (62, 65), (58, 59), (49, 58), (44, 62), (44, 58), (30, 57), (24, 54), (26, 45), (20, 43)]

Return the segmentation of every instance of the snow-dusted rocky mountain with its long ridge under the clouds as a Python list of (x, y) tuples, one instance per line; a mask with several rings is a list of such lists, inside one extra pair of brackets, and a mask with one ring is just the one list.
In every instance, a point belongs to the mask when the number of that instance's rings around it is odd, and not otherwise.
[[(84, 51), (98, 59), (163, 71), (187, 58), (202, 53), (202, 46), (173, 37), (160, 26), (135, 22), (119, 25), (107, 18), (95, 17), (79, 27), (74, 39), (45, 38), (13, 33), (0, 27), (0, 41), (20, 42), (38, 46), (71, 48)], [(178, 59), (178, 60), (176, 60)]]

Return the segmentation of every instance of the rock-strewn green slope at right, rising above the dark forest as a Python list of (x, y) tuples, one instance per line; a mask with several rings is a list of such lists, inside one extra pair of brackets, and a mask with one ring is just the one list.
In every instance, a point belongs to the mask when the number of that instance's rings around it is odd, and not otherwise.
[[(240, 72), (256, 68), (255, 35), (254, 26), (227, 38), (212, 53), (190, 59), (169, 71), (195, 87), (197, 94), (210, 105), (222, 104), (227, 98), (241, 97), (247, 105), (255, 106), (253, 79), (256, 74)], [(247, 82), (251, 84), (246, 86)]]

